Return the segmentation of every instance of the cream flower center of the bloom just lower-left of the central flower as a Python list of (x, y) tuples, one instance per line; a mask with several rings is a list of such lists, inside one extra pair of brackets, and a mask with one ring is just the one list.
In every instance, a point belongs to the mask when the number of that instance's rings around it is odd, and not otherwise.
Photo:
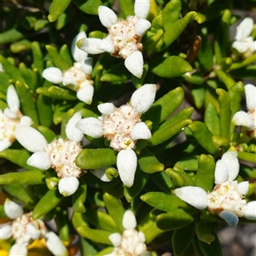
[(59, 138), (49, 143), (45, 150), (58, 177), (79, 177), (84, 172), (75, 165), (75, 159), (82, 151), (80, 143)]

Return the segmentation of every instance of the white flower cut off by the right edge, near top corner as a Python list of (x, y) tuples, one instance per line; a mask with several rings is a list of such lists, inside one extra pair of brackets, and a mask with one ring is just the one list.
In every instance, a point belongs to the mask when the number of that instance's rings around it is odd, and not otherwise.
[(232, 44), (233, 49), (236, 49), (239, 55), (248, 57), (253, 55), (256, 50), (256, 41), (250, 35), (253, 32), (253, 19), (250, 17), (241, 21), (236, 27), (235, 42)]

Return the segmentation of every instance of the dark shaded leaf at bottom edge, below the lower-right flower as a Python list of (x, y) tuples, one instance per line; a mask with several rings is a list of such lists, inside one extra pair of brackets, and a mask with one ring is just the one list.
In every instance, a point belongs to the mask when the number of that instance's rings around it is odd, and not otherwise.
[(182, 255), (189, 247), (189, 243), (195, 232), (195, 223), (189, 224), (181, 229), (174, 230), (172, 235), (172, 247), (174, 255)]

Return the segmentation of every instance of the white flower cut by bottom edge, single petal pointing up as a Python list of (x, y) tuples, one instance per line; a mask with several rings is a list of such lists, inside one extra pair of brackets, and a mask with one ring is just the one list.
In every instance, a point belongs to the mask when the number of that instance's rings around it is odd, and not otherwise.
[(125, 228), (123, 235), (113, 233), (108, 237), (112, 241), (114, 249), (112, 253), (105, 256), (142, 256), (148, 253), (145, 235), (142, 231), (138, 232), (135, 229), (136, 226), (137, 221), (133, 212), (127, 210), (123, 217), (123, 227)]

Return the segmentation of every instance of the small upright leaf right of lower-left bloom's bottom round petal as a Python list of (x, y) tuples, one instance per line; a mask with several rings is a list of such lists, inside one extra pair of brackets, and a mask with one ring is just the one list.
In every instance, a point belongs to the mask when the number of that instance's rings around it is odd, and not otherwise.
[(84, 201), (86, 200), (87, 195), (87, 185), (84, 183), (83, 179), (79, 180), (79, 189), (72, 195), (72, 201), (73, 201), (73, 211), (84, 213), (85, 207), (84, 207)]

